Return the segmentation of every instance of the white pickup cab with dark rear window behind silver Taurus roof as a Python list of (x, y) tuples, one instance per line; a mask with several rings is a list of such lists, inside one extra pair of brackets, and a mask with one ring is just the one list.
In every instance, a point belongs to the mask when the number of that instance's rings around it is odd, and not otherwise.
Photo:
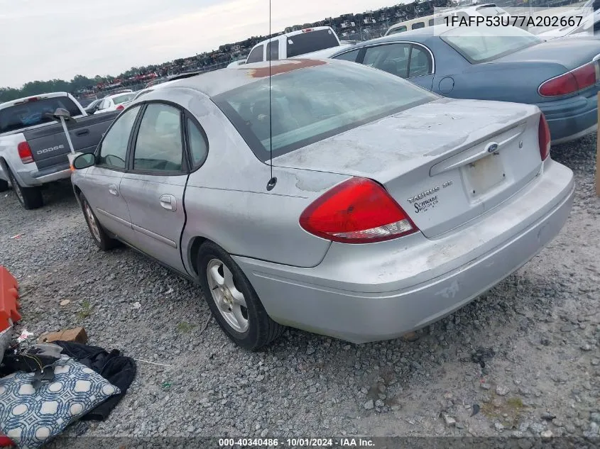
[(305, 28), (254, 45), (246, 58), (246, 64), (298, 57), (326, 48), (339, 47), (339, 45), (341, 45), (339, 38), (333, 28), (329, 26)]

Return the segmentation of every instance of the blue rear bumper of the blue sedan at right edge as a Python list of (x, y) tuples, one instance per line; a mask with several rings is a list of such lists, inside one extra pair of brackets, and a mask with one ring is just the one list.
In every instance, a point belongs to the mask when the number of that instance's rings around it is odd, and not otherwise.
[(595, 90), (591, 96), (579, 95), (537, 106), (548, 121), (553, 144), (569, 142), (596, 131), (598, 100)]

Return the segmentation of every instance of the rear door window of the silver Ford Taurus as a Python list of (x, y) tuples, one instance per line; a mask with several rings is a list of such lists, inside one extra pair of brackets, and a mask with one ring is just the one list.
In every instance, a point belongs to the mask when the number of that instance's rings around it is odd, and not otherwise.
[(136, 139), (133, 170), (179, 172), (182, 162), (180, 111), (166, 104), (148, 104)]

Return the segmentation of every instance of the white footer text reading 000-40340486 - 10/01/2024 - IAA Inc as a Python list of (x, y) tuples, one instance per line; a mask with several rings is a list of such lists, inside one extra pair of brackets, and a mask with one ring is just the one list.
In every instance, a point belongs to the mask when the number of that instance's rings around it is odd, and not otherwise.
[(220, 438), (219, 446), (224, 448), (256, 447), (272, 448), (369, 448), (374, 445), (369, 438)]

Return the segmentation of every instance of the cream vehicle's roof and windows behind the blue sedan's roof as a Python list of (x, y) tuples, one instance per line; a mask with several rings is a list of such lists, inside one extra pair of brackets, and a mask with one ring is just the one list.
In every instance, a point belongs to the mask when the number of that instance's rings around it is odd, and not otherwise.
[[(493, 17), (493, 16), (508, 16), (510, 14), (504, 9), (496, 6), (496, 4), (488, 3), (474, 6), (467, 6), (458, 9), (448, 9), (439, 11), (438, 13), (431, 14), (430, 16), (423, 16), (413, 18), (410, 21), (403, 21), (396, 23), (386, 31), (386, 36), (404, 33), (405, 31), (418, 30), (420, 28), (427, 28), (434, 25), (454, 25), (452, 17), (457, 19), (469, 18), (469, 17)], [(455, 19), (456, 20), (456, 19)]]

